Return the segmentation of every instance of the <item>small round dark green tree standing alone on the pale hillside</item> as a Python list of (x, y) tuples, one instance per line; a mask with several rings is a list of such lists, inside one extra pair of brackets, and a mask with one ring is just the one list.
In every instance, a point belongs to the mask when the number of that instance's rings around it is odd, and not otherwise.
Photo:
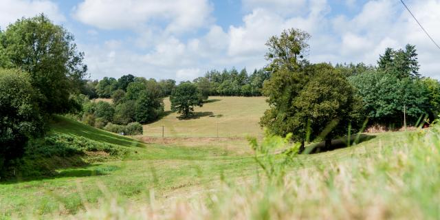
[(170, 102), (171, 110), (183, 114), (185, 118), (194, 111), (194, 107), (203, 106), (203, 98), (192, 83), (178, 85), (170, 96)]

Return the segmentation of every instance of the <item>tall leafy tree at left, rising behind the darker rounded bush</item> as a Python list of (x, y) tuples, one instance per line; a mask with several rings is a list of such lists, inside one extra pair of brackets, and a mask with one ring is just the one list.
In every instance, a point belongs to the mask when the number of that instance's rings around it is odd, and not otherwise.
[(72, 34), (41, 14), (9, 25), (0, 34), (0, 44), (1, 65), (30, 74), (41, 111), (69, 111), (69, 95), (80, 90), (87, 72)]

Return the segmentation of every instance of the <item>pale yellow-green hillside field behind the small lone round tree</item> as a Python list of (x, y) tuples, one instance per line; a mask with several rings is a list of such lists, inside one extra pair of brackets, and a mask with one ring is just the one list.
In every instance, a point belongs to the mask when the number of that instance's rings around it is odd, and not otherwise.
[(245, 137), (263, 135), (259, 120), (267, 109), (264, 97), (210, 96), (203, 107), (195, 108), (195, 115), (187, 120), (170, 111), (165, 98), (165, 115), (157, 122), (144, 125), (144, 135), (162, 137)]

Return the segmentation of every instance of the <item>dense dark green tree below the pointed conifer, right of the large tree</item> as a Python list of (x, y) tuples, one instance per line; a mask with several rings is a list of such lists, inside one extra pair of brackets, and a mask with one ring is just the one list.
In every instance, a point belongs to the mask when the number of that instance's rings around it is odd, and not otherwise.
[(372, 124), (403, 124), (404, 107), (408, 122), (428, 112), (428, 89), (420, 80), (397, 78), (384, 72), (366, 72), (349, 78), (362, 97), (364, 110)]

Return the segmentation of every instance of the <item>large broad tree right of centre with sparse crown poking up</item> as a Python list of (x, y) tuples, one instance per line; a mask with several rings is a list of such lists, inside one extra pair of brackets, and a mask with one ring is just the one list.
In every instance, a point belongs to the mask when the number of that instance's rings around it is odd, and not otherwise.
[(263, 95), (270, 109), (260, 122), (274, 134), (292, 133), (302, 149), (309, 137), (321, 135), (328, 146), (331, 138), (347, 132), (356, 102), (353, 87), (338, 70), (328, 64), (310, 65), (305, 59), (307, 39), (306, 32), (291, 29), (266, 43), (272, 77)]

